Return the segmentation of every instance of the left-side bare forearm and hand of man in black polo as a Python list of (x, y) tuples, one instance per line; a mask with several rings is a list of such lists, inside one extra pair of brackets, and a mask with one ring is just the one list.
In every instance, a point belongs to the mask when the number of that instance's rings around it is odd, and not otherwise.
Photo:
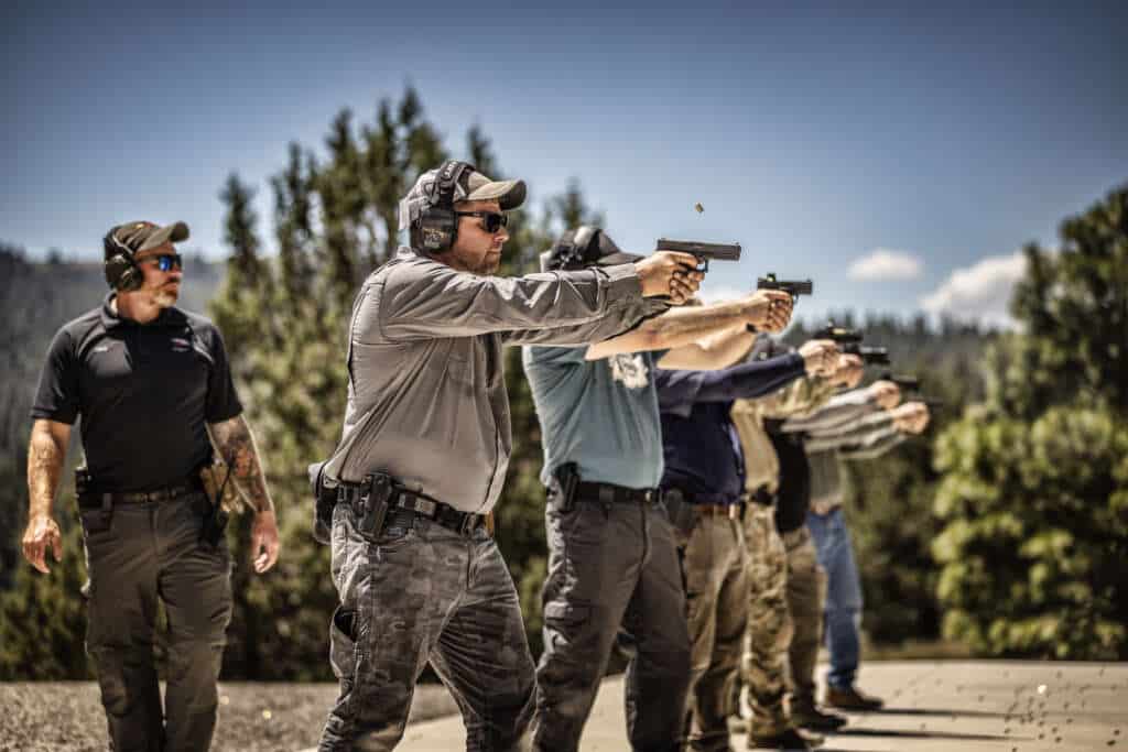
[(27, 530), (24, 532), (24, 558), (46, 574), (47, 547), (55, 561), (63, 560), (62, 533), (52, 515), (59, 478), (67, 460), (71, 427), (67, 423), (38, 418), (32, 424), (27, 444)]

